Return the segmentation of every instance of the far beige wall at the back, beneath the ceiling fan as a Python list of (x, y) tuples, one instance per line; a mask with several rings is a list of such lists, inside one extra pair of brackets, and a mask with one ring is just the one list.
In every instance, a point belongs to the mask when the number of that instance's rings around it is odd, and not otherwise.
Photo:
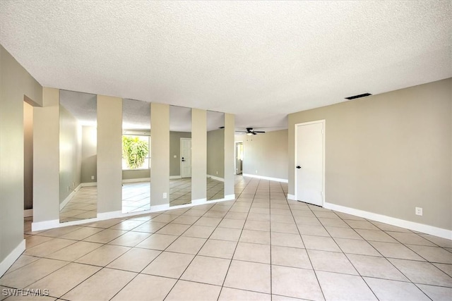
[(287, 139), (287, 130), (235, 136), (236, 141), (243, 141), (243, 173), (287, 180)]

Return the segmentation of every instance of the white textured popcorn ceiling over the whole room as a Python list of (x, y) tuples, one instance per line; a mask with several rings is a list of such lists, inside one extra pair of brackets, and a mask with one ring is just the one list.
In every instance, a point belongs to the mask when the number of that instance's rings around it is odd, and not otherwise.
[(452, 76), (451, 1), (0, 1), (41, 85), (236, 114), (236, 129)]

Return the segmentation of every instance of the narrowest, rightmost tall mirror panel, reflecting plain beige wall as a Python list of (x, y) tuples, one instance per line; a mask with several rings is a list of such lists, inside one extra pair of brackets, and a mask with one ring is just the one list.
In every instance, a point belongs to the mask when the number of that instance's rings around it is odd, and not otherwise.
[(207, 200), (225, 198), (225, 113), (207, 111)]

